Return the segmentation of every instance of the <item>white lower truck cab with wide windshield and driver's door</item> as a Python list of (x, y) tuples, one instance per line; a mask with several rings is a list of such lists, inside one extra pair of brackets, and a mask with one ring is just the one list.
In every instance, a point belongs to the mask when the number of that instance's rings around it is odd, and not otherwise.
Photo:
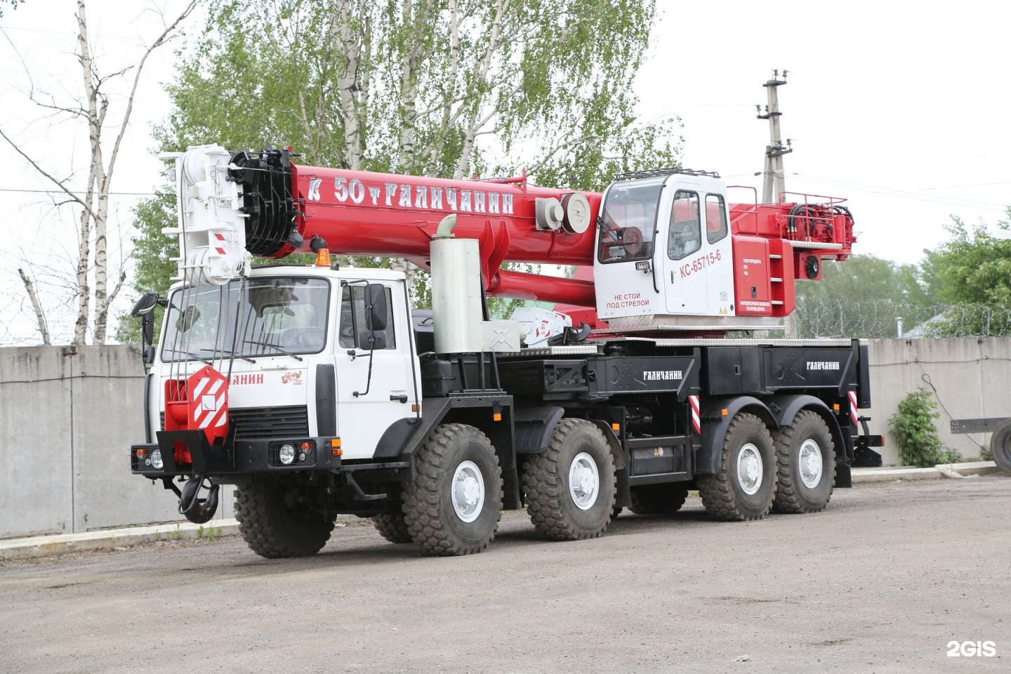
[[(325, 437), (340, 441), (345, 460), (371, 458), (382, 432), (421, 405), (404, 284), (389, 270), (303, 266), (257, 268), (223, 285), (177, 284), (152, 367), (151, 426), (163, 427), (168, 382), (211, 365), (228, 383), (240, 434)], [(381, 330), (366, 325), (367, 285), (385, 291)], [(296, 453), (295, 465), (298, 454), (302, 463), (311, 458)]]

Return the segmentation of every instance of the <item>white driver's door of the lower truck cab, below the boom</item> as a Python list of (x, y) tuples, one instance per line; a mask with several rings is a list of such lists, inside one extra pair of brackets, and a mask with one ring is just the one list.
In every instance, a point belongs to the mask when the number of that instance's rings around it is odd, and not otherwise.
[[(376, 443), (397, 419), (415, 416), (418, 404), (415, 358), (407, 330), (402, 287), (386, 284), (385, 344), (372, 352), (365, 326), (365, 284), (341, 289), (338, 313), (337, 399), (338, 435), (344, 459), (370, 459)], [(369, 374), (371, 363), (371, 376)]]

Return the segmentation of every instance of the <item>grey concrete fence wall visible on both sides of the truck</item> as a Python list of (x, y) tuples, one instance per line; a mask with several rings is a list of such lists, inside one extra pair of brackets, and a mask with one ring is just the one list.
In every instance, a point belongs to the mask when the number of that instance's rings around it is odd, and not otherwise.
[[(988, 438), (951, 437), (950, 417), (1011, 414), (1011, 340), (876, 340), (869, 353), (871, 432), (887, 432), (920, 386), (944, 406), (941, 440), (967, 458)], [(143, 391), (132, 347), (0, 349), (0, 538), (180, 518), (171, 492), (129, 472), (129, 446), (145, 437)], [(898, 464), (886, 442), (886, 465)], [(219, 518), (233, 516), (231, 491)]]

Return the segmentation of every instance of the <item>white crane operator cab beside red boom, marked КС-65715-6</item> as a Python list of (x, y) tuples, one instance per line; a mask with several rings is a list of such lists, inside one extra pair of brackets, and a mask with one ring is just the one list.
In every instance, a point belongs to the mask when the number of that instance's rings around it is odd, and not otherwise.
[(726, 187), (717, 174), (619, 176), (598, 218), (598, 315), (733, 316), (729, 233)]

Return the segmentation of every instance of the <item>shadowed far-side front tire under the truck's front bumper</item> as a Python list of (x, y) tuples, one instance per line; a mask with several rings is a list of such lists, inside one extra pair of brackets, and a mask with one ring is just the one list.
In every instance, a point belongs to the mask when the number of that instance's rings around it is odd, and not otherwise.
[(260, 557), (306, 557), (319, 552), (334, 531), (333, 518), (312, 512), (284, 497), (287, 485), (254, 475), (235, 492), (236, 519), (250, 550)]

